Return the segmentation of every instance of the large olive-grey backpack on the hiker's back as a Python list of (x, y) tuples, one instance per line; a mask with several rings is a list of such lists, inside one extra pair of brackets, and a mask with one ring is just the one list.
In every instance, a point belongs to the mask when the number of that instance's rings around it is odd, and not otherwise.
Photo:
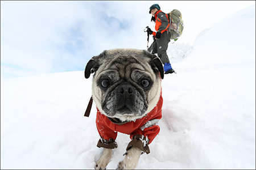
[(169, 32), (171, 33), (171, 40), (177, 40), (184, 28), (181, 12), (179, 10), (172, 10), (168, 14), (168, 20), (170, 23)]

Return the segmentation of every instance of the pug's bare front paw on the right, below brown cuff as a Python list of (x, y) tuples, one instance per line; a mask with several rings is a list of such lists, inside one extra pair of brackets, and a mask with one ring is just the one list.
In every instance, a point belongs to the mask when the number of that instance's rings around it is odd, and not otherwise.
[(141, 156), (141, 150), (137, 147), (131, 147), (125, 154), (125, 159), (119, 162), (117, 169), (135, 169)]

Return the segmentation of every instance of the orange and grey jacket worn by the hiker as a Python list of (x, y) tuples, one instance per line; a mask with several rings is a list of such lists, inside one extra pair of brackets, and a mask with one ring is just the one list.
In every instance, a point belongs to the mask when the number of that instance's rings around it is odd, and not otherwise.
[[(167, 31), (167, 28), (170, 26), (168, 15), (164, 14), (163, 11), (159, 10), (155, 13), (155, 31), (163, 33)], [(153, 32), (152, 35), (156, 35), (156, 32)]]

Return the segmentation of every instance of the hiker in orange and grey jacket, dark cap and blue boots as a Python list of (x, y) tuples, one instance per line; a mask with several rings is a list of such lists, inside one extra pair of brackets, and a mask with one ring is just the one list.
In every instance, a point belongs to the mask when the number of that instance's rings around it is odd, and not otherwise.
[(154, 42), (152, 42), (147, 50), (152, 54), (158, 54), (158, 57), (164, 64), (164, 74), (176, 73), (174, 69), (172, 69), (171, 63), (166, 53), (168, 43), (171, 39), (171, 33), (168, 32), (168, 28), (170, 25), (168, 21), (168, 16), (160, 10), (160, 6), (158, 4), (152, 5), (150, 7), (149, 13), (152, 15), (151, 22), (155, 22), (156, 32), (151, 31), (151, 29), (148, 28), (149, 34), (153, 35)]

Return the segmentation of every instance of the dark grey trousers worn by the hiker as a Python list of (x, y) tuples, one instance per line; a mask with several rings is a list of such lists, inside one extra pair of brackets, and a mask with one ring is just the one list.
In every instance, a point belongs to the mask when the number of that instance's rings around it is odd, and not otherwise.
[(163, 63), (170, 63), (169, 57), (167, 56), (168, 43), (170, 42), (171, 34), (170, 32), (164, 31), (160, 39), (154, 40), (150, 47), (147, 49), (148, 52), (152, 54), (158, 54), (158, 57)]

